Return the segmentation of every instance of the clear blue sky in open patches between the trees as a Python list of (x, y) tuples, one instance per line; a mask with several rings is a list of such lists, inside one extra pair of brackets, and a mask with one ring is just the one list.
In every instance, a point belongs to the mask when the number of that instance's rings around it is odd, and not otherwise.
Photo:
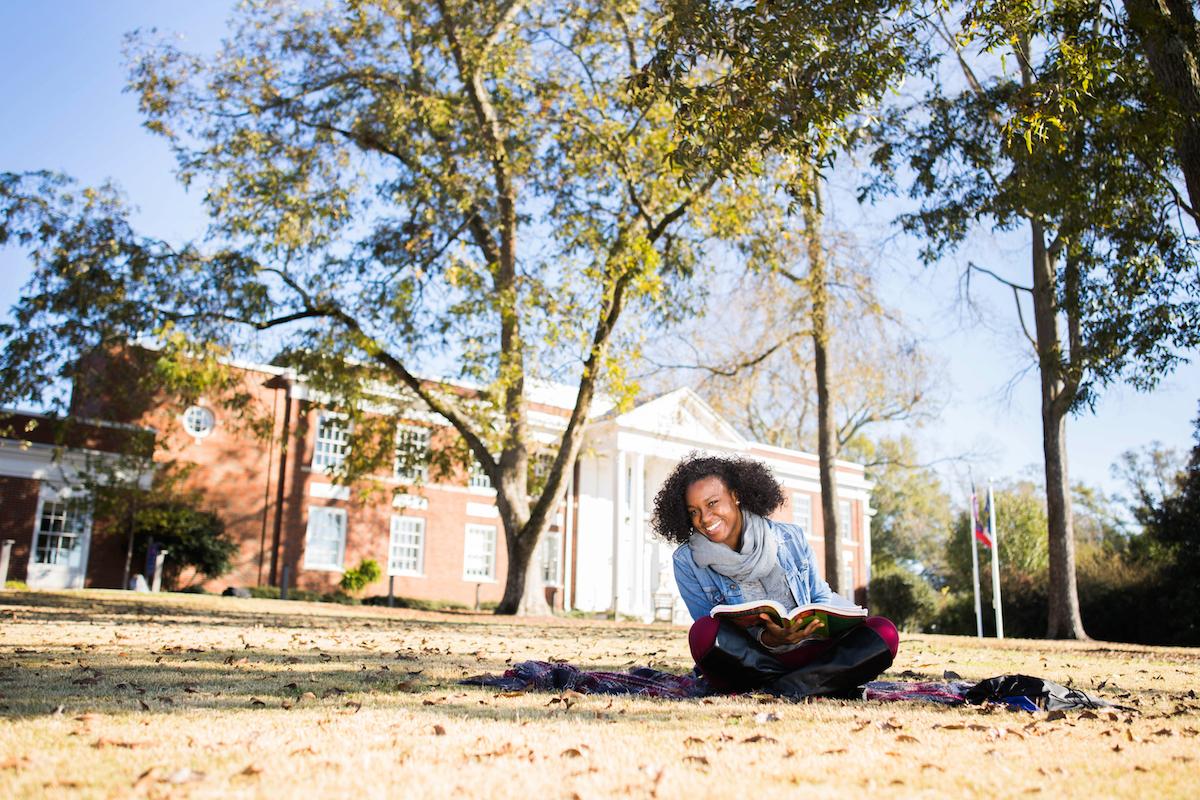
[[(172, 178), (166, 143), (140, 127), (136, 98), (124, 94), (121, 41), (133, 29), (158, 28), (188, 49), (211, 49), (223, 32), (226, 10), (216, 0), (60, 0), (0, 2), (0, 170), (56, 169), (85, 184), (114, 179), (140, 211), (137, 222), (163, 239), (199, 234), (199, 199)], [(845, 193), (832, 196), (832, 216), (871, 242), (889, 231), (893, 209), (859, 207)], [(1019, 282), (1028, 259), (1020, 239), (979, 236), (959, 260), (936, 269), (916, 264), (911, 242), (890, 240), (878, 248), (884, 287), (942, 360), (947, 405), (918, 433), (923, 456), (944, 458), (966, 450), (982, 453), (971, 465), (977, 480), (1040, 470), (1042, 445), (1036, 373), (1015, 380), (1028, 363), (1012, 295), (979, 279), (972, 296), (977, 317), (959, 302), (958, 273), (974, 258)], [(0, 251), (0, 314), (17, 300), (29, 270), (12, 248)], [(1117, 488), (1109, 468), (1118, 455), (1152, 440), (1180, 450), (1192, 445), (1192, 420), (1200, 399), (1200, 366), (1168, 377), (1142, 395), (1108, 390), (1094, 414), (1068, 423), (1073, 480)], [(955, 491), (966, 468), (947, 468)]]

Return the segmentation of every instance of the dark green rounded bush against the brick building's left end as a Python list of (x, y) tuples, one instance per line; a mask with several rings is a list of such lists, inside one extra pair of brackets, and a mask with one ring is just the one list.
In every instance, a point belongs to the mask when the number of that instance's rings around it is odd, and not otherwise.
[(209, 511), (184, 501), (158, 501), (138, 509), (133, 515), (134, 564), (145, 560), (150, 541), (167, 549), (163, 585), (174, 588), (185, 569), (205, 578), (217, 578), (229, 571), (238, 545), (226, 536), (224, 522)]

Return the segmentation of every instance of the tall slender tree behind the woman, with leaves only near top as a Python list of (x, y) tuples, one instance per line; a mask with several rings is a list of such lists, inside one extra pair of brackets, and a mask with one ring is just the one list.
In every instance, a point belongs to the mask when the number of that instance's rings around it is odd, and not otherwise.
[[(817, 395), (817, 456), (826, 553), (840, 553), (836, 431), (823, 175), (862, 128), (862, 115), (901, 79), (912, 55), (904, 2), (671, 0), (647, 80), (676, 103), (677, 162), (700, 174), (744, 152), (791, 162), (786, 188), (800, 218), (805, 315)], [(794, 223), (793, 223), (794, 224)], [(838, 559), (826, 579), (839, 590)]]

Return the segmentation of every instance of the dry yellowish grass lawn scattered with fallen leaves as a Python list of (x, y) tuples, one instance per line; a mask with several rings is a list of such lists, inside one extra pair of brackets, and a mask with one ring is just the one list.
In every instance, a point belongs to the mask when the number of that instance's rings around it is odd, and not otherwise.
[(887, 674), (1026, 673), (1136, 712), (498, 693), (527, 658), (691, 667), (664, 625), (0, 594), (0, 798), (1200, 796), (1200, 650), (942, 636)]

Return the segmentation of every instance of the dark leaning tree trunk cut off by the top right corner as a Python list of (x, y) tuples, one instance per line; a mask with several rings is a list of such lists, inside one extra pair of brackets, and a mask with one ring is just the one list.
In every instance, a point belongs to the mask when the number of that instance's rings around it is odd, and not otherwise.
[(1180, 113), (1175, 148), (1200, 224), (1200, 25), (1189, 0), (1124, 0), (1154, 80)]

